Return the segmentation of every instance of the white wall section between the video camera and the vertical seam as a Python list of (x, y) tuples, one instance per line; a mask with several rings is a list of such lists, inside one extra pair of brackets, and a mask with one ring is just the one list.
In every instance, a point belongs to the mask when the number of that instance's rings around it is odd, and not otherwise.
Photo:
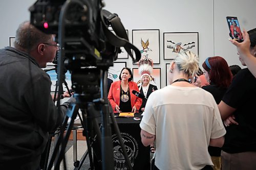
[[(161, 2), (161, 3), (160, 3)], [(129, 38), (132, 41), (134, 29), (159, 29), (160, 30), (160, 64), (161, 87), (165, 81), (165, 63), (172, 60), (163, 60), (163, 33), (164, 32), (199, 32), (199, 58), (214, 55), (214, 4), (213, 1), (154, 1), (154, 0), (106, 0), (105, 9), (117, 13), (125, 29), (129, 30)], [(204, 24), (204, 25), (202, 25)], [(125, 61), (119, 59), (119, 61)], [(128, 67), (138, 67), (127, 62)], [(159, 88), (159, 87), (158, 87)]]

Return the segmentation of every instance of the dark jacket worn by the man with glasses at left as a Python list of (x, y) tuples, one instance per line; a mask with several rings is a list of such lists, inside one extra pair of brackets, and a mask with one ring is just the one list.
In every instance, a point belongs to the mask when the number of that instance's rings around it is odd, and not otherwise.
[(68, 103), (58, 114), (49, 75), (25, 52), (0, 50), (0, 72), (0, 165), (34, 161), (46, 147), (48, 132), (61, 124)]

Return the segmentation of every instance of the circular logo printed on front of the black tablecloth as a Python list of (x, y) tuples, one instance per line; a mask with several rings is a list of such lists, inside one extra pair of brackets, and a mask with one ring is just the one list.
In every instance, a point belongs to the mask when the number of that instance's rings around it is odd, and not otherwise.
[[(135, 138), (129, 133), (121, 133), (121, 137), (123, 139), (123, 143), (125, 145), (125, 149), (127, 155), (131, 161), (132, 166), (134, 166), (135, 158), (138, 155), (139, 147), (138, 142)], [(116, 169), (127, 169), (125, 158), (123, 156), (122, 149), (120, 147), (120, 143), (116, 134), (112, 135), (113, 142), (113, 152), (114, 152), (114, 165)]]

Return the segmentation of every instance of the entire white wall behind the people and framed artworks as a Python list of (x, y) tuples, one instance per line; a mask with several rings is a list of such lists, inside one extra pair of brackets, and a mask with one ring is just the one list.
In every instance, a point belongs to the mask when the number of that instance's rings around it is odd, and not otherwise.
[[(0, 1), (1, 39), (0, 48), (9, 45), (9, 37), (15, 36), (19, 23), (30, 19), (28, 8), (34, 0)], [(132, 40), (133, 29), (160, 30), (161, 87), (165, 86), (165, 63), (163, 60), (164, 32), (199, 32), (200, 65), (211, 56), (224, 57), (229, 65), (241, 66), (236, 48), (228, 41), (226, 16), (237, 16), (246, 30), (256, 27), (255, 0), (105, 0), (105, 9), (117, 13)], [(119, 61), (126, 61), (121, 60)], [(128, 67), (133, 65), (131, 59)]]

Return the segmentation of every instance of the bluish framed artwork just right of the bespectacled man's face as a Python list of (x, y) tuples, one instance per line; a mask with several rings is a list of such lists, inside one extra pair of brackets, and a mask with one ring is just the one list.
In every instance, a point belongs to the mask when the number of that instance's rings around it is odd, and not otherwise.
[[(45, 69), (52, 69), (52, 68), (55, 68), (55, 67), (52, 66), (52, 65), (48, 65)], [(54, 70), (50, 70), (50, 71), (47, 71), (47, 74), (50, 76), (51, 81), (52, 81), (51, 91), (54, 92), (55, 88), (56, 88), (56, 81), (57, 81), (56, 71), (55, 71), (55, 69)], [(67, 71), (65, 76), (66, 76), (65, 81), (68, 83), (69, 89), (71, 89), (72, 82), (71, 82), (71, 74), (70, 74), (70, 72)], [(65, 84), (62, 84), (62, 86), (63, 86), (63, 91), (64, 92), (68, 90), (67, 87), (65, 86)]]

